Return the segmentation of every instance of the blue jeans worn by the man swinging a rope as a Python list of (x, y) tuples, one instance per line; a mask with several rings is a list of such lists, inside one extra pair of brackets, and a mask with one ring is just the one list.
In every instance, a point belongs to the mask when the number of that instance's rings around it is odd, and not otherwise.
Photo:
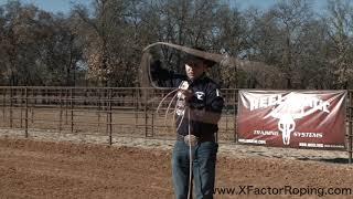
[[(194, 191), (197, 199), (213, 198), (218, 144), (204, 142), (192, 147)], [(186, 199), (189, 191), (189, 146), (176, 140), (172, 156), (173, 184), (176, 199)]]

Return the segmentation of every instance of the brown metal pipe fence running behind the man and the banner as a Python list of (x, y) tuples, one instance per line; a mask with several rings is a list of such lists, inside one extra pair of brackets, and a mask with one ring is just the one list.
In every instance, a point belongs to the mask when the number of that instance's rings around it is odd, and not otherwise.
[[(151, 87), (0, 86), (0, 127), (31, 132), (107, 136), (175, 137), (170, 90)], [(218, 140), (235, 143), (238, 90), (222, 90), (225, 108)], [(353, 91), (346, 98), (346, 151), (352, 163)], [(157, 108), (161, 106), (159, 112)], [(169, 108), (170, 107), (170, 108)]]

